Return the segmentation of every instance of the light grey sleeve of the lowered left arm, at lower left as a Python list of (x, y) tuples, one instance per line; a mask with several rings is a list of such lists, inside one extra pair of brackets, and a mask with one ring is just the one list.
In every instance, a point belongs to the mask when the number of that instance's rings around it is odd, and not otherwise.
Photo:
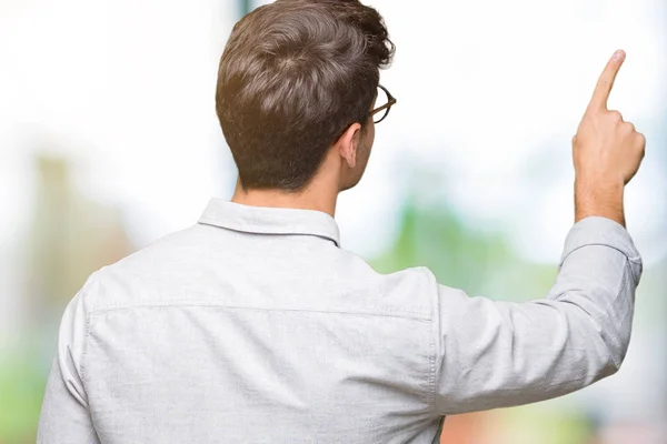
[(42, 402), (38, 444), (98, 444), (83, 385), (86, 341), (84, 290), (69, 303), (58, 333), (58, 353), (51, 366)]

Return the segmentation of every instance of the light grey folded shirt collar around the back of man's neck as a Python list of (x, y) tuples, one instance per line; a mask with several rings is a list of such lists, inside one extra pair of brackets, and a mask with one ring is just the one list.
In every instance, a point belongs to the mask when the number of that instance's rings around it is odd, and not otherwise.
[(321, 211), (249, 206), (211, 199), (199, 223), (246, 233), (315, 235), (340, 245), (338, 224)]

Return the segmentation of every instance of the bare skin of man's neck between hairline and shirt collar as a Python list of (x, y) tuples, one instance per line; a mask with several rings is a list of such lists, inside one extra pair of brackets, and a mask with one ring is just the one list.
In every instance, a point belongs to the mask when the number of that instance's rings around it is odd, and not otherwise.
[(282, 190), (243, 190), (237, 182), (231, 201), (250, 206), (315, 210), (334, 218), (337, 198), (337, 191), (315, 184), (303, 191), (286, 192)]

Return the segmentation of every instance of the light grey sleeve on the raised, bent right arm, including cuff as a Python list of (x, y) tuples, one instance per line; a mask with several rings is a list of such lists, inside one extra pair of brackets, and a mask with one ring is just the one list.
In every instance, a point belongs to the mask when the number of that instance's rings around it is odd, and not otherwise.
[(570, 230), (546, 299), (500, 302), (439, 285), (438, 414), (548, 400), (616, 373), (640, 275), (628, 232), (594, 216)]

